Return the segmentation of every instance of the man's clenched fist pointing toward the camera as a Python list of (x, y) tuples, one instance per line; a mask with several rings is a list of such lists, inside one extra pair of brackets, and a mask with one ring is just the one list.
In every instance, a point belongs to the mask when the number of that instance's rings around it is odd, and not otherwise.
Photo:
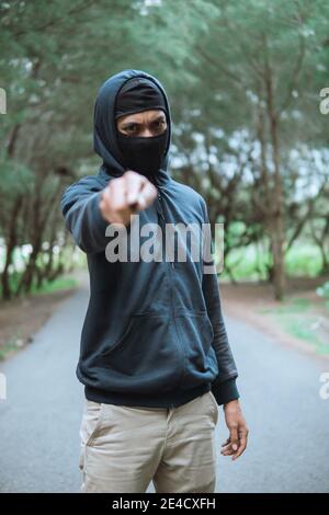
[(128, 226), (131, 216), (150, 206), (156, 196), (157, 188), (146, 176), (128, 170), (101, 192), (100, 210), (110, 224)]

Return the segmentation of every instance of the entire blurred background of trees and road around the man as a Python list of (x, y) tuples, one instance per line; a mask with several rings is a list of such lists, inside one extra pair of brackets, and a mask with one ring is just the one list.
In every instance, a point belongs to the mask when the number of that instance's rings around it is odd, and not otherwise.
[(94, 99), (127, 68), (163, 84), (170, 173), (225, 228), (250, 444), (217, 491), (329, 491), (328, 62), (317, 0), (0, 1), (0, 491), (79, 489), (89, 283), (59, 199), (98, 172)]

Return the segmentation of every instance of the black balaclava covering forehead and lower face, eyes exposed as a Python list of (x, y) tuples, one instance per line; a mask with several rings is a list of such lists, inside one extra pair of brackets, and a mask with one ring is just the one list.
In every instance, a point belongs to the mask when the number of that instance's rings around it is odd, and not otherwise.
[[(148, 110), (162, 110), (168, 123), (164, 99), (159, 88), (146, 78), (127, 80), (117, 93), (115, 119), (120, 116)], [(157, 136), (127, 136), (116, 129), (124, 165), (147, 176), (155, 176), (162, 165), (168, 128)]]

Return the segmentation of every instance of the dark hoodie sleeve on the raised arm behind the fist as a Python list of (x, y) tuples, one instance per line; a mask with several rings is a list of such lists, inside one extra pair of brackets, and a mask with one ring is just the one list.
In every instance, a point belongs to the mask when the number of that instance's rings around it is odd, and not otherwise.
[(60, 199), (65, 226), (77, 245), (86, 253), (102, 252), (109, 243), (109, 222), (99, 208), (102, 186), (93, 175), (87, 175), (68, 186)]

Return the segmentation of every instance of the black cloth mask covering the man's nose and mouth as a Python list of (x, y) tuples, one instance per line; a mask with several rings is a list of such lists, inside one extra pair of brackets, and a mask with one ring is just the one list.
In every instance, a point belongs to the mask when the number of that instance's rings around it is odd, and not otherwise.
[(117, 130), (117, 141), (127, 169), (155, 176), (161, 168), (168, 128), (158, 136), (127, 136)]

